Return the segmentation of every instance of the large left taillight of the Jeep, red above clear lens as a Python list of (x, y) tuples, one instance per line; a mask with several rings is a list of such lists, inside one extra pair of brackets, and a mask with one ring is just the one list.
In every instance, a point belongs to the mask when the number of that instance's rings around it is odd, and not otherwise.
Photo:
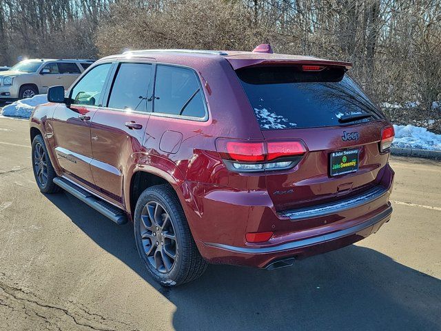
[(306, 148), (302, 141), (243, 141), (217, 139), (216, 149), (229, 170), (258, 172), (294, 167)]

